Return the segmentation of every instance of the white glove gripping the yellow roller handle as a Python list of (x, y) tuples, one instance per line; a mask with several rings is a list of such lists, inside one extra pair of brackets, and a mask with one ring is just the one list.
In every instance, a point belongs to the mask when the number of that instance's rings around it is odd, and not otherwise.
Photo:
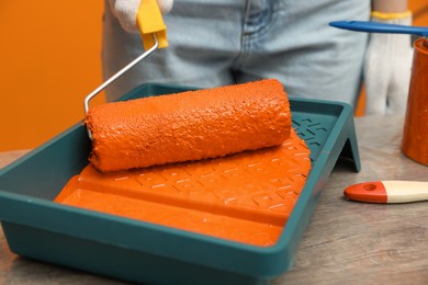
[[(161, 13), (171, 11), (173, 0), (157, 1)], [(140, 0), (109, 0), (109, 2), (123, 30), (129, 33), (138, 32), (136, 18)]]

